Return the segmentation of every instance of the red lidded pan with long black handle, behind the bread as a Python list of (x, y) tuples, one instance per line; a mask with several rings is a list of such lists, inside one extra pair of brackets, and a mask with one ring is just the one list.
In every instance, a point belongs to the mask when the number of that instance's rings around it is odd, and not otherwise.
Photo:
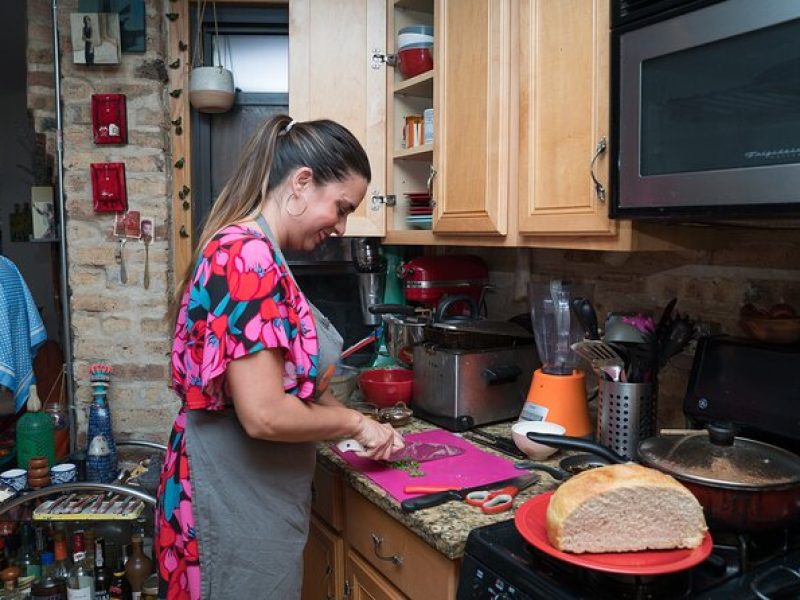
[[(537, 442), (583, 450), (615, 463), (625, 459), (583, 438), (529, 433)], [(708, 435), (651, 437), (639, 461), (675, 477), (697, 497), (706, 520), (724, 531), (749, 533), (784, 527), (800, 517), (800, 457), (770, 444), (735, 437), (709, 425)]]

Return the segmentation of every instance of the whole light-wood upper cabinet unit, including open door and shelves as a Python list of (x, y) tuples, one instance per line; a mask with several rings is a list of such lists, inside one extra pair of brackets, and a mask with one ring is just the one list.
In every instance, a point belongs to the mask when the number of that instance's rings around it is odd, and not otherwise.
[[(347, 235), (390, 244), (668, 249), (658, 225), (608, 218), (610, 0), (291, 0), (290, 109), (364, 144), (373, 178)], [(434, 69), (404, 80), (381, 57), (434, 26)], [(346, 32), (346, 33), (345, 33)], [(402, 147), (433, 107), (432, 145)], [(594, 160), (593, 160), (594, 159)], [(433, 230), (406, 221), (432, 183)], [(606, 192), (607, 193), (607, 192)], [(395, 204), (383, 202), (393, 196)]]

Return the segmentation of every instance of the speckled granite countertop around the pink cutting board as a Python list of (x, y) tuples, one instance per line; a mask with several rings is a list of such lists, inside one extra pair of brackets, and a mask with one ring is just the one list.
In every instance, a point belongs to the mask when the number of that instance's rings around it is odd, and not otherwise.
[[(437, 429), (437, 427), (425, 421), (412, 419), (410, 424), (399, 428), (398, 431), (406, 434), (430, 429)], [(510, 423), (487, 425), (480, 427), (480, 429), (496, 435), (511, 437)], [(477, 444), (476, 446), (490, 454), (502, 456), (509, 460), (515, 460), (492, 448)], [(481, 527), (482, 525), (490, 525), (499, 521), (505, 521), (514, 516), (513, 510), (497, 515), (486, 515), (479, 509), (465, 502), (446, 502), (440, 506), (407, 514), (400, 510), (400, 504), (397, 500), (390, 496), (383, 488), (373, 483), (371, 479), (351, 468), (345, 460), (330, 449), (328, 444), (319, 444), (317, 455), (321, 463), (333, 467), (354, 490), (403, 523), (403, 525), (411, 529), (415, 534), (449, 559), (458, 559), (464, 555), (464, 545), (466, 544), (467, 535), (471, 529)], [(557, 452), (551, 459), (539, 462), (557, 466), (558, 461), (563, 456), (563, 452)], [(552, 477), (541, 471), (521, 470), (520, 475), (528, 472), (538, 474), (541, 479), (538, 483), (519, 493), (514, 500), (515, 508), (537, 494), (554, 489), (557, 485), (557, 482)]]

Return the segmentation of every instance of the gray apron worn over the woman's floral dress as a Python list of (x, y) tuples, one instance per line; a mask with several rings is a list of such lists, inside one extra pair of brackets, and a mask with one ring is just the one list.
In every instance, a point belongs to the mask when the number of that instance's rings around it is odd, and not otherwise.
[[(258, 224), (282, 257), (263, 217)], [(342, 337), (309, 305), (324, 373), (338, 360)], [(187, 410), (185, 435), (201, 598), (299, 599), (316, 444), (253, 439), (232, 408)]]

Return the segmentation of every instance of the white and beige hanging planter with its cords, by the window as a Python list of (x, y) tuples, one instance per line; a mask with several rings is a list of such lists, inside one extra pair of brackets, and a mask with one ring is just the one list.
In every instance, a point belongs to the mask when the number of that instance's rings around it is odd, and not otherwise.
[(203, 48), (200, 42), (206, 8), (206, 2), (203, 1), (197, 11), (197, 44), (195, 56), (192, 58), (192, 72), (189, 75), (189, 102), (199, 112), (221, 113), (227, 112), (233, 106), (236, 90), (233, 86), (233, 73), (222, 66), (216, 3), (212, 1), (211, 7), (214, 11), (214, 52), (211, 61), (214, 62), (216, 55), (217, 62), (211, 66), (194, 66), (195, 58), (199, 59), (200, 65), (203, 64)]

